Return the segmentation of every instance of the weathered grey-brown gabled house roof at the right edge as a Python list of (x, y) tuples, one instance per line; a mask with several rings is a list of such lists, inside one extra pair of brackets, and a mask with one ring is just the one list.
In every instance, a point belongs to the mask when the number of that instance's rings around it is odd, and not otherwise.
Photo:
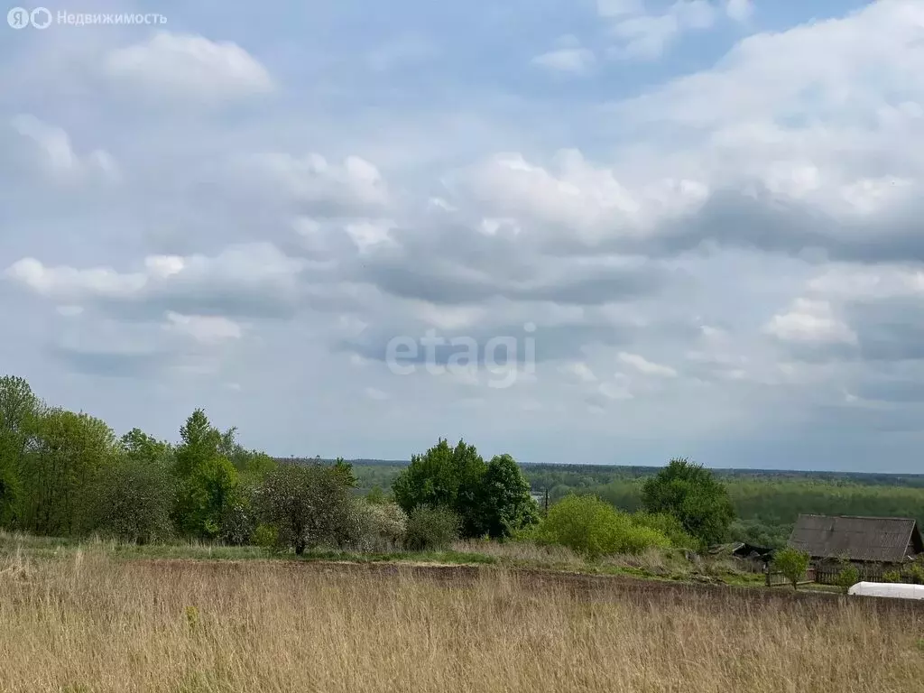
[(918, 523), (910, 517), (829, 517), (800, 515), (789, 545), (813, 558), (901, 563), (908, 543), (924, 551)]

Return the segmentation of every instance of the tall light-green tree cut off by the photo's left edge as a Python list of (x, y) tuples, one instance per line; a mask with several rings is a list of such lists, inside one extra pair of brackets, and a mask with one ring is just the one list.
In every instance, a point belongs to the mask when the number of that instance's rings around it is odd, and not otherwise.
[(15, 514), (21, 468), (41, 409), (23, 378), (0, 378), (0, 524)]

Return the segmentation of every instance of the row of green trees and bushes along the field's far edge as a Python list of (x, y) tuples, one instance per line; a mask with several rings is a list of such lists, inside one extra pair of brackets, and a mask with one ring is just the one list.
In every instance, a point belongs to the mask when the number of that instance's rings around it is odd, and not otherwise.
[(579, 553), (700, 548), (735, 517), (723, 483), (686, 458), (641, 489), (635, 513), (569, 495), (547, 517), (509, 455), (439, 440), (411, 457), (389, 492), (359, 493), (338, 458), (286, 463), (238, 443), (196, 409), (176, 443), (45, 404), (22, 378), (0, 378), (0, 527), (121, 541), (259, 544), (305, 553), (444, 548), (456, 538), (557, 543)]

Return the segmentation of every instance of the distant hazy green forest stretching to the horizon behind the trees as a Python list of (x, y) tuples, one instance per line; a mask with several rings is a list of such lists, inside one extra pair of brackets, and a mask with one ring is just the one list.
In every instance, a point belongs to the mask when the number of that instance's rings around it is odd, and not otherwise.
[[(290, 461), (293, 458), (287, 458)], [(407, 462), (351, 460), (359, 491), (388, 491)], [(641, 505), (642, 482), (656, 467), (604, 465), (530, 465), (520, 467), (534, 492), (549, 492), (550, 502), (570, 492), (592, 493), (634, 512)], [(924, 474), (713, 469), (728, 486), (737, 516), (732, 539), (761, 546), (782, 546), (799, 513), (915, 517), (924, 523)]]

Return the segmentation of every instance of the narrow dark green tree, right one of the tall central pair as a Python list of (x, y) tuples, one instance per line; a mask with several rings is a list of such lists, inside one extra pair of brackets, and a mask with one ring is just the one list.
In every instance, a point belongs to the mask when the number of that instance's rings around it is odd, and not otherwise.
[(481, 517), (492, 539), (511, 536), (539, 522), (539, 506), (529, 495), (529, 482), (516, 460), (493, 456), (481, 478)]

